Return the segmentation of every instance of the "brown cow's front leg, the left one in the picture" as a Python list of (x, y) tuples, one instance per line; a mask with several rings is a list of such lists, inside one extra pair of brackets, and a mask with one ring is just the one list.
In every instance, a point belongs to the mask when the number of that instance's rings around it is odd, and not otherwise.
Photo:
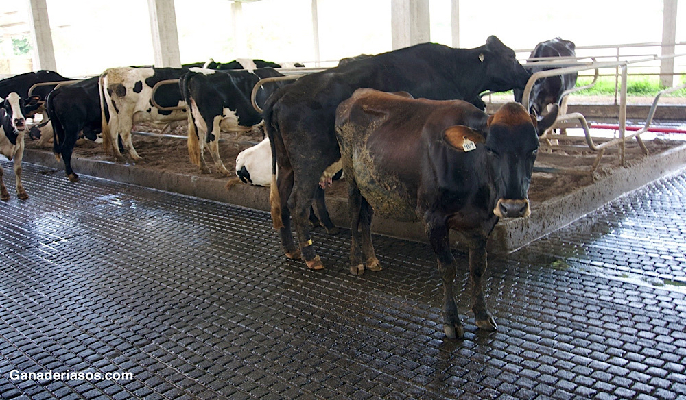
[(438, 260), (438, 272), (443, 282), (443, 332), (449, 339), (462, 338), (464, 327), (458, 315), (458, 306), (455, 303), (453, 282), (455, 281), (456, 262), (450, 250), (448, 240), (448, 227), (442, 222), (427, 222), (424, 227), (429, 236), (431, 248), (436, 253)]

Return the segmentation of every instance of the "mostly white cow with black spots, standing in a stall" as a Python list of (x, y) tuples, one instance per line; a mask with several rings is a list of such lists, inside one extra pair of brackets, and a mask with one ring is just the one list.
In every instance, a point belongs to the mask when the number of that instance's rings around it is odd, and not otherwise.
[[(162, 111), (152, 105), (152, 88), (166, 79), (179, 79), (189, 70), (184, 68), (110, 68), (99, 77), (99, 96), (102, 103), (102, 142), (105, 153), (114, 152), (122, 160), (121, 151), (115, 145), (121, 137), (124, 149), (132, 160), (141, 157), (133, 147), (131, 128), (134, 123), (168, 123), (187, 118), (186, 110)], [(178, 85), (160, 86), (155, 101), (163, 107), (183, 107)]]

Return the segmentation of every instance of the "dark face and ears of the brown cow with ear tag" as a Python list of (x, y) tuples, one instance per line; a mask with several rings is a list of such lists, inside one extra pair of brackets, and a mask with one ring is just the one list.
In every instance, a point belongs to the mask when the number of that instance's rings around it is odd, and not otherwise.
[(519, 103), (508, 103), (488, 118), (484, 136), (469, 127), (446, 129), (444, 136), (453, 147), (471, 151), (484, 143), (483, 162), (495, 186), (493, 214), (500, 218), (529, 216), (527, 192), (539, 150), (539, 136), (555, 122), (557, 105), (540, 120)]

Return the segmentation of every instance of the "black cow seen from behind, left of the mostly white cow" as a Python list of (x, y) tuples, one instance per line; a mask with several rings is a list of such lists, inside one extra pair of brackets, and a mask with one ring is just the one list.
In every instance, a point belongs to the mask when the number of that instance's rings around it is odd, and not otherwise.
[(48, 95), (45, 108), (54, 132), (53, 151), (64, 161), (64, 172), (71, 182), (79, 176), (71, 169), (71, 153), (79, 132), (90, 140), (102, 131), (98, 77), (60, 86)]

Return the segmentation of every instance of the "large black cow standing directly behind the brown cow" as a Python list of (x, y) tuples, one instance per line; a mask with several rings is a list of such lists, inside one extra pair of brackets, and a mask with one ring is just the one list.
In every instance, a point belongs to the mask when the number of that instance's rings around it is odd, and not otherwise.
[[(475, 49), (424, 43), (301, 77), (272, 95), (264, 108), (272, 144), (270, 202), (287, 257), (323, 268), (311, 246), (307, 216), (320, 176), (340, 158), (335, 108), (357, 88), (405, 91), (427, 99), (475, 99), (485, 90), (523, 88), (530, 74), (495, 36)], [(279, 165), (276, 179), (276, 163)], [(290, 229), (290, 213), (300, 251)]]

